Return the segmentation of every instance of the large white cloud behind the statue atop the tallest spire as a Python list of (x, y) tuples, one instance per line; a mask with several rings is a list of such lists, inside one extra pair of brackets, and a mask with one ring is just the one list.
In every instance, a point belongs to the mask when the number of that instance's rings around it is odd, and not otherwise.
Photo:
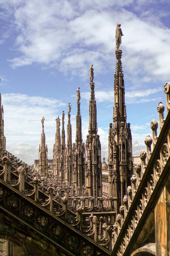
[[(123, 67), (129, 78), (142, 74), (141, 81), (148, 82), (151, 76), (152, 80), (169, 76), (170, 29), (161, 23), (164, 12), (157, 8), (155, 17), (153, 1), (6, 0), (1, 4), (13, 15), (18, 34), (15, 48), (20, 56), (10, 60), (13, 68), (39, 62), (85, 78), (93, 62), (95, 75), (107, 73), (114, 68), (115, 26), (120, 20)], [(126, 10), (126, 6), (133, 10), (141, 5), (143, 13), (140, 11), (139, 16)]]

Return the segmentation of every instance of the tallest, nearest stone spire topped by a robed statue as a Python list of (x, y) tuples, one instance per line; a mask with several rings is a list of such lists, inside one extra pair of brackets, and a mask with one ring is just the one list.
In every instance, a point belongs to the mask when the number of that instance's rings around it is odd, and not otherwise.
[(132, 174), (132, 137), (130, 124), (126, 123), (125, 88), (122, 71), (122, 30), (120, 24), (116, 28), (116, 70), (114, 74), (114, 108), (113, 127), (109, 124), (108, 134), (108, 174), (109, 196), (118, 198), (115, 208), (123, 204), (123, 195), (127, 193), (127, 186)]

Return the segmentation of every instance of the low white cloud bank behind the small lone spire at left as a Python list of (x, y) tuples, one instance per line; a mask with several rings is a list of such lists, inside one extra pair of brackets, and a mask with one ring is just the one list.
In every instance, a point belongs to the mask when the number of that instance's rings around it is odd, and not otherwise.
[[(55, 118), (66, 104), (61, 100), (29, 96), (19, 93), (2, 95), (4, 104), (4, 135), (6, 148), (28, 164), (38, 157), (41, 142), (41, 118), (45, 116), (46, 143), (50, 158), (55, 138)], [(50, 150), (51, 148), (51, 150)]]

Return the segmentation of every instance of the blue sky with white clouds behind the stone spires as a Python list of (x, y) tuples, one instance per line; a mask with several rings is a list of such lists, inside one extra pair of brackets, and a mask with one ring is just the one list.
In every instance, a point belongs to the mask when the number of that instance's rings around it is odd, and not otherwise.
[[(108, 128), (113, 122), (115, 28), (121, 24), (122, 67), (127, 123), (133, 155), (145, 149), (166, 106), (170, 81), (169, 0), (0, 0), (0, 91), (4, 106), (6, 149), (28, 164), (38, 159), (41, 118), (52, 159), (56, 116), (71, 103), (75, 141), (76, 91), (81, 91), (83, 141), (88, 133), (89, 67), (94, 68), (98, 134), (102, 157), (108, 156)], [(166, 113), (164, 114), (166, 116)]]

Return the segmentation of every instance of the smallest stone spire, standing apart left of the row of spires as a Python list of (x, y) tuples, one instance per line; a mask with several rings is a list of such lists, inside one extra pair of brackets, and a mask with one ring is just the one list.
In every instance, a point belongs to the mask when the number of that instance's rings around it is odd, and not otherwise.
[(48, 173), (48, 148), (45, 144), (45, 133), (44, 133), (44, 116), (41, 119), (42, 123), (42, 133), (41, 133), (41, 145), (39, 145), (39, 161), (38, 167), (39, 172), (42, 174)]

